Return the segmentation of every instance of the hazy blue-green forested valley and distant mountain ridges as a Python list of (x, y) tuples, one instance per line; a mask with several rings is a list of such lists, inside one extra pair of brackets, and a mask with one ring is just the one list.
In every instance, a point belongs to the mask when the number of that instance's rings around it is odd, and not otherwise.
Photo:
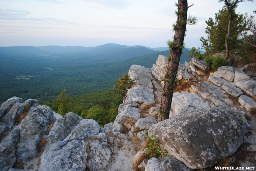
[[(50, 52), (43, 47), (0, 47), (0, 103), (13, 96), (24, 100), (37, 99), (42, 103), (56, 99), (63, 89), (70, 96), (110, 90), (122, 74), (128, 73), (131, 65), (152, 68), (159, 55), (170, 54), (169, 50), (160, 52), (114, 45), (101, 45), (103, 50), (94, 47), (94, 51), (92, 47), (87, 51), (81, 51), (81, 47), (72, 51), (69, 47), (66, 51), (62, 49), (65, 52), (62, 54), (56, 53), (52, 46), (47, 47), (51, 48)], [(55, 50), (58, 48), (61, 47)], [(89, 50), (97, 51), (98, 55), (89, 53)], [(89, 55), (82, 56), (82, 52)], [(188, 61), (187, 54), (188, 49), (184, 49), (180, 63)]]

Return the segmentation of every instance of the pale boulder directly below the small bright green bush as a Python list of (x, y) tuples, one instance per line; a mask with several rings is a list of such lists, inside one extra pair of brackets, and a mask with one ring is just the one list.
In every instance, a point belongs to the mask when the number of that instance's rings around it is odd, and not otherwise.
[(235, 69), (232, 66), (221, 66), (216, 72), (214, 72), (214, 76), (233, 82), (235, 77)]

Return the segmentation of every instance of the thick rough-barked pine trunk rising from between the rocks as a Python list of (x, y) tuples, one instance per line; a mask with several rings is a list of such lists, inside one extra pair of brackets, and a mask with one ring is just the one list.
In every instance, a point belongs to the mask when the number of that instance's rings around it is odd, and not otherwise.
[[(179, 14), (179, 12), (181, 14)], [(164, 120), (169, 118), (169, 113), (171, 109), (172, 103), (172, 95), (173, 89), (175, 88), (175, 80), (176, 75), (178, 72), (180, 56), (183, 48), (183, 41), (186, 32), (186, 25), (187, 25), (187, 12), (188, 12), (188, 2), (187, 0), (179, 0), (178, 1), (178, 19), (176, 23), (176, 28), (173, 42), (176, 42), (170, 51), (170, 57), (168, 57), (168, 65), (167, 71), (165, 74), (164, 80), (164, 88), (161, 100), (161, 107), (160, 111), (161, 114), (159, 115), (159, 120)]]

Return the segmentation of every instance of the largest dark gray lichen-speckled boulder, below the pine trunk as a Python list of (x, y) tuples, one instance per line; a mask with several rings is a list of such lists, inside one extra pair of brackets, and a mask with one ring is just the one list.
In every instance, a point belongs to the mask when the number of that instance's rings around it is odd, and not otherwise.
[(245, 132), (237, 109), (196, 108), (157, 123), (148, 134), (189, 168), (202, 169), (236, 152)]

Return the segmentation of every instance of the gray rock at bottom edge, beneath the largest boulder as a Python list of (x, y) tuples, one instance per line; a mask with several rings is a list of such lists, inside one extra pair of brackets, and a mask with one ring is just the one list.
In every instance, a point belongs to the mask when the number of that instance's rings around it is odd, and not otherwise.
[(192, 171), (179, 160), (170, 157), (151, 158), (145, 171)]

